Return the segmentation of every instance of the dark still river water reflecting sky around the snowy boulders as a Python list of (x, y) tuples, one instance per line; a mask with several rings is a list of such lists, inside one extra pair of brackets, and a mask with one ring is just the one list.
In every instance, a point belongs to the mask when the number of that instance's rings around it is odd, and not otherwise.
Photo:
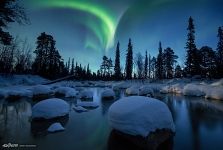
[[(72, 109), (77, 99), (65, 99), (70, 104), (69, 116), (63, 118), (65, 131), (54, 134), (36, 134), (44, 130), (40, 124), (31, 123), (32, 106), (30, 99), (16, 102), (0, 100), (0, 149), (2, 144), (31, 145), (28, 149), (54, 150), (104, 150), (107, 149), (111, 128), (107, 111), (115, 100), (101, 100), (102, 88), (90, 88), (94, 92), (93, 101), (100, 103), (96, 109), (77, 113)], [(223, 102), (181, 95), (156, 95), (171, 110), (176, 125), (174, 150), (223, 150)]]

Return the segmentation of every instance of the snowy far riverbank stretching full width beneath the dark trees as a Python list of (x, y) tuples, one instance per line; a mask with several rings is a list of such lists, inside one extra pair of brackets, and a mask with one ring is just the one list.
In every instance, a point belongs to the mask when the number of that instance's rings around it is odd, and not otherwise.
[[(208, 99), (223, 100), (223, 79), (219, 80), (190, 80), (171, 79), (162, 81), (132, 80), (132, 81), (62, 81), (50, 85), (40, 85), (48, 80), (36, 75), (0, 76), (0, 97), (8, 98), (33, 97), (38, 94), (61, 93), (74, 97), (82, 91), (82, 87), (110, 87), (113, 90), (126, 89), (128, 95), (151, 96), (153, 93), (174, 93), (185, 96), (199, 96)], [(66, 88), (64, 88), (66, 87)], [(45, 89), (45, 90), (43, 90)], [(63, 90), (61, 90), (63, 89)], [(66, 91), (68, 90), (68, 91)], [(72, 94), (74, 92), (74, 94)]]

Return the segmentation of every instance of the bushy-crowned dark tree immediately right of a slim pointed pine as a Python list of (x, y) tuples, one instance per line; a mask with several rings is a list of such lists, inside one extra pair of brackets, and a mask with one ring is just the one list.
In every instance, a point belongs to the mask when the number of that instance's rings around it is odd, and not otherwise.
[(174, 63), (176, 63), (177, 55), (174, 54), (174, 51), (167, 47), (163, 52), (163, 67), (165, 72), (165, 77), (170, 79), (174, 77)]

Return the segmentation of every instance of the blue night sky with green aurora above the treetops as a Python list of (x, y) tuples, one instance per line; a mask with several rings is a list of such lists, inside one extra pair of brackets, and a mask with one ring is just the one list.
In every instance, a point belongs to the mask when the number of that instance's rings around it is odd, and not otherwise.
[(124, 67), (128, 39), (134, 54), (157, 56), (158, 43), (171, 47), (185, 61), (188, 18), (193, 17), (197, 47), (216, 49), (217, 29), (223, 26), (222, 0), (23, 0), (31, 24), (11, 24), (9, 31), (33, 46), (41, 32), (53, 35), (65, 59), (99, 69), (103, 55), (114, 60), (120, 41)]

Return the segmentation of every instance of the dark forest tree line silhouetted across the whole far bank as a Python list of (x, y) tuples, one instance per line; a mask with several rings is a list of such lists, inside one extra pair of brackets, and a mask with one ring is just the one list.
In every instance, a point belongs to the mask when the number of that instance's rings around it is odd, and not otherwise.
[[(15, 9), (16, 8), (16, 9)], [(29, 45), (28, 40), (13, 38), (7, 32), (9, 23), (28, 24), (25, 11), (15, 0), (3, 0), (0, 5), (0, 73), (36, 74), (48, 79), (56, 79), (71, 75), (79, 80), (131, 80), (131, 79), (171, 79), (181, 77), (223, 78), (223, 28), (217, 32), (217, 49), (209, 46), (197, 48), (195, 44), (195, 26), (192, 17), (188, 20), (185, 65), (180, 66), (178, 56), (170, 47), (158, 45), (158, 55), (134, 54), (129, 39), (125, 65), (120, 65), (120, 43), (117, 43), (114, 63), (108, 56), (103, 56), (97, 72), (90, 69), (90, 64), (83, 66), (74, 58), (64, 62), (56, 41), (52, 35), (41, 33), (36, 39), (36, 48)], [(3, 13), (4, 12), (4, 13)], [(35, 57), (33, 57), (33, 53)]]

